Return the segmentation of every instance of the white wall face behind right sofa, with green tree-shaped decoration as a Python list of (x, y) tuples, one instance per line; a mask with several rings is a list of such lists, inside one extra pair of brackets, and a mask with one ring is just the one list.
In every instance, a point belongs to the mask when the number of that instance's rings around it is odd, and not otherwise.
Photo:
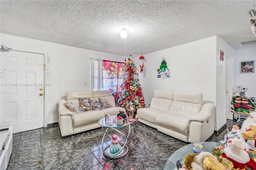
[[(154, 89), (190, 91), (203, 94), (205, 102), (216, 105), (216, 36), (145, 54), (144, 73), (139, 73), (145, 104), (148, 107)], [(170, 78), (157, 78), (157, 69), (165, 58)], [(138, 70), (137, 70), (138, 72)]]

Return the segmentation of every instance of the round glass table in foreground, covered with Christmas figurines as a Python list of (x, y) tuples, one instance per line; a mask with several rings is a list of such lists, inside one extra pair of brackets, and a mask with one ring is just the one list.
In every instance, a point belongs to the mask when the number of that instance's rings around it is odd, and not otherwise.
[[(219, 142), (196, 142), (196, 143), (202, 144), (204, 146), (204, 151), (210, 152), (210, 153), (212, 152), (212, 147), (216, 148), (217, 146), (220, 146)], [(176, 150), (167, 160), (164, 166), (164, 170), (174, 170), (178, 159), (183, 160), (187, 154), (193, 153), (193, 144), (194, 143), (187, 144), (179, 148), (178, 150)]]

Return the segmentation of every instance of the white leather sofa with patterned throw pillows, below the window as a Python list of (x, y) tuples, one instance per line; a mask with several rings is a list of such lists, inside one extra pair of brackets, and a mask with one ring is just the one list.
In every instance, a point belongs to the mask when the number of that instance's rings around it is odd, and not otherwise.
[[(93, 98), (98, 99), (99, 97), (108, 98), (112, 107), (101, 109), (101, 110), (92, 110), (92, 111), (84, 111), (79, 113), (73, 113), (68, 110), (64, 103), (69, 103), (79, 98)], [(76, 134), (80, 132), (84, 132), (86, 130), (91, 130), (94, 128), (101, 127), (98, 124), (98, 121), (101, 118), (104, 118), (105, 114), (110, 114), (111, 116), (117, 115), (120, 111), (124, 111), (125, 109), (122, 107), (116, 107), (114, 97), (111, 92), (108, 90), (98, 90), (98, 91), (90, 91), (90, 90), (79, 90), (79, 91), (68, 91), (66, 92), (66, 100), (62, 99), (58, 103), (59, 105), (59, 127), (62, 136), (68, 136), (71, 134)]]

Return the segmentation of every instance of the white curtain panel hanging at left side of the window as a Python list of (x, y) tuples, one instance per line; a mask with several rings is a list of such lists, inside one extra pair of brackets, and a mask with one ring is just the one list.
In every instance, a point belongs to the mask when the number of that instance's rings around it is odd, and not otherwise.
[(102, 78), (102, 59), (90, 58), (91, 59), (91, 90), (102, 90), (103, 89), (103, 78)]

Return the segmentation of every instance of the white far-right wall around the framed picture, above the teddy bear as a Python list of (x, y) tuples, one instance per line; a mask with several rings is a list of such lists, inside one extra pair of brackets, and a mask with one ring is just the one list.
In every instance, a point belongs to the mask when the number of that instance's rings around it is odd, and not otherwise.
[(254, 73), (240, 73), (240, 61), (254, 60), (256, 62), (256, 47), (244, 47), (235, 49), (234, 59), (234, 92), (237, 86), (248, 87), (246, 95), (248, 97), (256, 97), (256, 71), (254, 65)]

